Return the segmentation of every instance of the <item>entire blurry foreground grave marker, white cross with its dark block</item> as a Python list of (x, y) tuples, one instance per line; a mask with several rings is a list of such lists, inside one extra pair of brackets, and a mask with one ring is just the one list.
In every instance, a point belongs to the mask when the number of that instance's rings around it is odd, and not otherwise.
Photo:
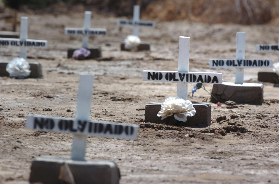
[(26, 128), (74, 134), (71, 159), (39, 157), (33, 161), (29, 181), (60, 183), (60, 169), (69, 165), (76, 183), (119, 183), (120, 174), (112, 161), (84, 159), (87, 135), (136, 139), (139, 126), (133, 124), (89, 121), (93, 75), (81, 75), (75, 119), (28, 115)]

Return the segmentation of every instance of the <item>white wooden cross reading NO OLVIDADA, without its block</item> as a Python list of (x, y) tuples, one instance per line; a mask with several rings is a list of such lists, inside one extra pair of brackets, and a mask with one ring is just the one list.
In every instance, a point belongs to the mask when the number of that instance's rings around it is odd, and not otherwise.
[(187, 100), (187, 82), (222, 83), (222, 73), (189, 72), (190, 37), (179, 36), (178, 71), (144, 70), (143, 81), (177, 82), (177, 96)]

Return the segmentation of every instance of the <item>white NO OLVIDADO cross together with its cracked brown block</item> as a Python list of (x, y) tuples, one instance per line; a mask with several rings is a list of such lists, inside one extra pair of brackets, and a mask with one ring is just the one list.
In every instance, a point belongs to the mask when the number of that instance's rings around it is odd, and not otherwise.
[[(243, 83), (244, 68), (272, 67), (271, 59), (245, 59), (245, 32), (237, 32), (236, 59), (211, 59), (210, 68), (236, 68), (235, 82), (213, 84), (211, 94), (219, 102), (232, 100), (239, 103), (262, 104), (263, 84)], [(211, 97), (211, 102), (216, 99)]]

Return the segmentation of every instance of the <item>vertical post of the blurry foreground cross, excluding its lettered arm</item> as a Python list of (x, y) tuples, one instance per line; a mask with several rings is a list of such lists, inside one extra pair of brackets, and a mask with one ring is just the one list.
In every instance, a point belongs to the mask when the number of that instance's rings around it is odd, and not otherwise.
[[(93, 75), (81, 74), (78, 85), (76, 120), (89, 121), (93, 83)], [(86, 139), (87, 135), (74, 135), (71, 152), (73, 160), (84, 160)]]

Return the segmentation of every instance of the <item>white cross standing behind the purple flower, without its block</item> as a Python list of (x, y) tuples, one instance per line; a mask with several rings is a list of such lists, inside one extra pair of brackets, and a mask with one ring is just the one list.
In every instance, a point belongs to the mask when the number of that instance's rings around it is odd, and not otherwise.
[(82, 39), (82, 47), (86, 48), (86, 49), (88, 48), (89, 35), (106, 35), (107, 34), (107, 29), (90, 28), (90, 21), (91, 21), (91, 12), (85, 11), (83, 28), (65, 27), (65, 34), (86, 35), (86, 36), (83, 36), (83, 39)]

